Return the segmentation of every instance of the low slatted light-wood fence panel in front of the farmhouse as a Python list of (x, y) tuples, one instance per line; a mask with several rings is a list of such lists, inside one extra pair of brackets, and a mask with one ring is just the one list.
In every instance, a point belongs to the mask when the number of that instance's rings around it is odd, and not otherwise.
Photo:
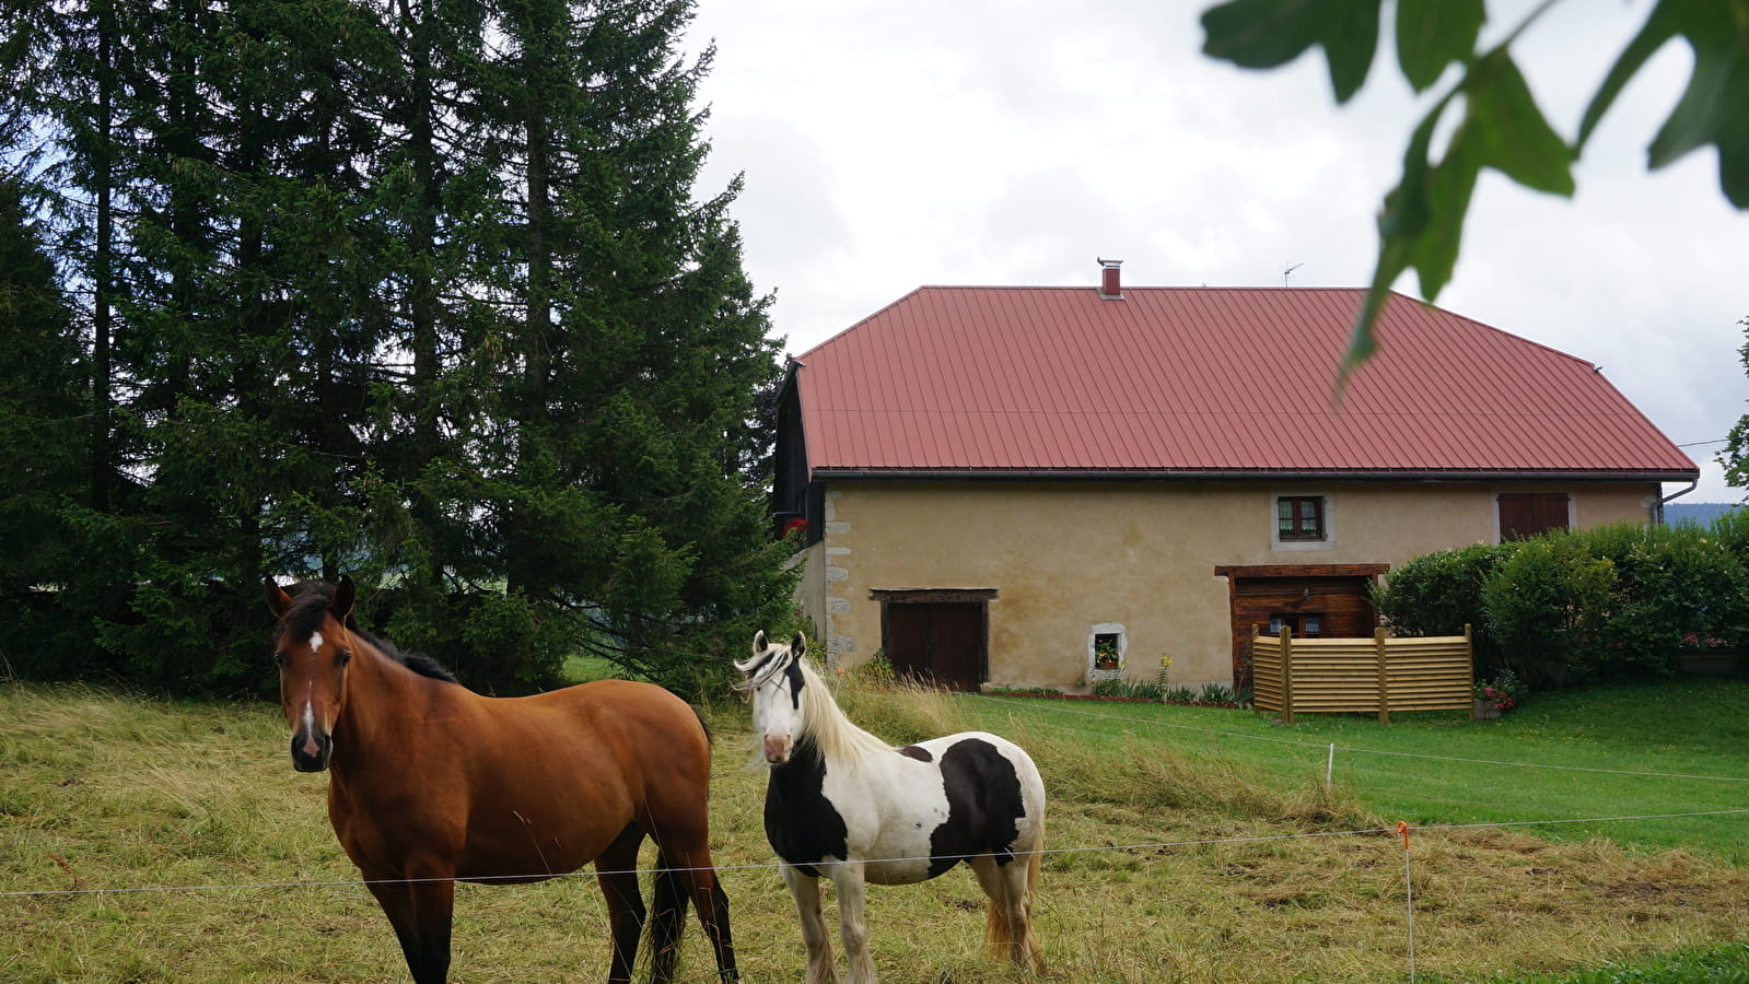
[(1252, 706), (1279, 711), (1462, 711), (1471, 708), (1474, 669), (1469, 626), (1460, 636), (1296, 640), (1252, 634)]

